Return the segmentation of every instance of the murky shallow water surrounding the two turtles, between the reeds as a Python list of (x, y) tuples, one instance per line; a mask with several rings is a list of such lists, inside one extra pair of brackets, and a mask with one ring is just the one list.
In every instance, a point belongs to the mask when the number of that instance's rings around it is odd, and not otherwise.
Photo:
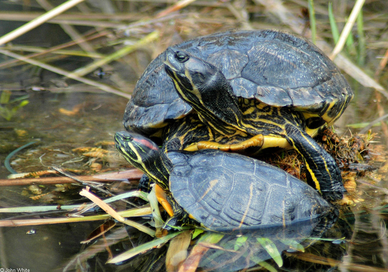
[[(316, 7), (320, 7), (317, 1), (315, 2)], [(386, 6), (382, 1), (380, 2), (381, 7)], [(8, 10), (10, 7), (12, 10), (11, 2), (4, 1), (4, 3), (1, 3), (0, 10)], [(384, 8), (381, 9), (378, 6), (379, 1), (373, 2), (374, 4), (377, 5), (376, 9), (379, 12), (384, 10)], [(156, 5), (159, 6), (160, 4), (157, 3)], [(373, 5), (369, 4), (369, 9), (372, 9)], [(145, 11), (144, 14), (142, 14), (144, 11), (137, 11), (136, 15), (139, 18), (143, 19), (152, 14), (150, 9), (143, 7), (143, 3), (139, 6)], [(265, 24), (260, 25), (259, 28), (279, 27), (278, 21), (271, 13), (261, 12), (261, 8), (259, 9), (258, 6), (251, 6), (253, 9), (250, 11), (249, 16), (252, 17), (252, 20), (255, 20), (255, 16), (259, 16), (258, 20)], [(323, 10), (325, 13), (327, 3), (325, 2), (324, 5), (321, 5), (321, 8), (322, 6), (324, 6)], [(21, 7), (18, 8), (21, 10)], [(133, 9), (133, 6), (130, 9)], [(151, 10), (158, 14), (160, 8)], [(220, 14), (211, 14), (211, 10), (216, 9), (206, 8), (202, 11), (205, 12), (205, 16), (210, 15), (210, 23), (204, 24), (203, 22), (208, 22), (206, 20), (209, 18), (205, 18), (202, 15), (198, 16), (199, 21), (192, 17), (188, 17), (189, 20), (179, 18), (180, 22), (179, 20), (169, 20), (168, 25), (166, 24), (163, 27), (165, 29), (172, 29), (172, 31), (169, 33), (165, 30), (166, 32), (162, 34), (165, 40), (158, 41), (158, 48), (155, 51), (165, 48), (167, 44), (163, 43), (169, 43), (169, 39), (172, 36), (179, 36), (178, 32), (182, 36), (194, 37), (199, 34), (213, 32), (214, 28), (223, 30), (220, 26), (225, 24), (227, 28), (241, 27), (240, 22), (236, 22), (236, 24), (226, 23), (222, 14), (225, 11), (222, 9), (218, 11)], [(299, 10), (299, 8), (295, 8), (295, 10)], [(345, 9), (338, 8), (338, 10), (343, 13)], [(209, 11), (210, 13), (206, 13)], [(133, 10), (130, 10), (130, 12), (133, 15)], [(379, 40), (380, 30), (378, 27), (375, 27), (380, 24), (384, 30), (385, 21), (378, 21), (384, 16), (375, 16), (376, 14), (373, 12), (375, 12), (374, 9), (372, 9), (372, 16), (371, 14), (365, 16), (365, 18), (368, 18), (365, 20), (365, 24), (369, 24), (366, 27), (369, 34), (368, 38), (376, 37), (375, 39), (377, 39), (373, 41), (371, 38), (371, 42), (367, 43), (373, 45), (368, 48), (368, 58), (372, 61), (365, 65), (365, 69), (370, 69), (371, 71), (375, 71), (375, 67), (378, 66), (377, 63), (372, 62), (379, 61), (379, 56), (384, 54), (386, 49), (378, 44), (378, 42), (384, 42), (384, 37), (382, 35), (381, 41)], [(270, 16), (266, 18), (266, 14)], [(339, 20), (340, 17), (346, 17), (346, 15), (338, 15)], [(227, 14), (227, 18), (230, 18), (230, 14)], [(380, 19), (376, 21), (373, 18)], [(217, 22), (217, 19), (220, 21)], [(19, 26), (22, 23), (17, 22), (16, 24)], [(206, 30), (206, 25), (209, 25), (211, 30)], [(257, 25), (254, 26), (257, 27)], [(4, 32), (16, 28), (14, 22), (8, 24), (5, 21), (1, 21), (1, 27)], [(150, 27), (154, 26), (151, 25)], [(320, 21), (320, 27), (325, 27), (323, 21)], [(329, 26), (326, 25), (326, 28), (329, 29)], [(134, 36), (136, 36), (136, 31), (138, 30), (134, 31)], [(141, 29), (140, 32), (143, 33), (143, 30)], [(330, 36), (328, 32), (330, 31), (327, 31), (326, 34)], [(384, 33), (384, 31), (381, 32)], [(171, 37), (168, 36), (169, 34)], [(65, 36), (65, 32), (59, 26), (45, 24), (41, 28), (17, 39), (15, 44), (50, 47), (65, 42), (61, 41)], [(171, 41), (178, 42), (179, 38), (171, 38)], [(373, 51), (373, 47), (377, 47), (377, 49)], [(112, 48), (105, 47), (102, 49), (104, 53), (112, 52), (113, 50)], [(130, 84), (134, 84), (136, 78), (139, 77), (151, 58), (141, 50), (132, 55), (127, 56), (128, 59), (125, 59), (123, 62), (112, 64), (113, 70), (106, 72), (113, 73), (113, 76), (114, 73), (121, 73), (122, 79), (129, 79)], [(9, 60), (2, 55), (0, 58), (1, 61)], [(85, 64), (81, 64), (81, 61), (85, 63), (90, 62), (89, 59), (69, 57), (65, 60), (59, 59), (54, 64), (71, 71)], [(114, 66), (116, 64), (119, 65)], [(132, 64), (133, 67), (129, 67), (129, 64)], [(31, 141), (38, 142), (18, 152), (11, 160), (11, 166), (17, 172), (46, 170), (51, 166), (58, 166), (72, 170), (74, 175), (83, 175), (90, 174), (92, 164), (96, 167), (94, 169), (98, 173), (104, 170), (117, 171), (120, 167), (128, 166), (124, 160), (119, 158), (112, 145), (114, 133), (122, 129), (121, 122), (127, 99), (106, 94), (83, 93), (81, 92), (81, 86), (75, 85), (75, 82), (70, 82), (69, 86), (66, 86), (69, 81), (58, 79), (53, 73), (37, 69), (36, 67), (31, 69), (24, 67), (20, 69), (20, 66), (12, 66), (11, 68), (0, 70), (1, 90), (21, 90), (20, 92), (14, 91), (12, 97), (15, 98), (28, 94), (28, 100), (30, 101), (27, 106), (16, 111), (16, 114), (10, 121), (5, 121), (5, 119), (0, 117), (0, 178), (6, 178), (10, 174), (3, 164), (5, 157), (12, 150)], [(101, 72), (97, 70), (97, 76), (99, 77), (100, 75)], [(95, 77), (94, 80), (109, 80), (110, 76), (104, 75), (104, 79), (99, 79), (98, 77)], [(336, 131), (339, 134), (346, 132), (346, 125), (349, 123), (372, 120), (375, 114), (373, 91), (360, 87), (353, 80), (349, 81), (355, 89), (356, 97), (345, 111), (343, 117), (336, 123)], [(112, 82), (109, 83), (113, 85)], [(121, 82), (115, 81), (114, 83), (119, 85)], [(125, 83), (128, 84), (128, 82)], [(32, 86), (35, 85), (44, 86), (54, 92), (31, 91)], [(122, 89), (133, 89), (125, 85), (120, 87)], [(30, 91), (25, 93), (25, 89)], [(88, 88), (88, 91), (93, 89), (94, 87)], [(67, 94), (55, 93), (55, 91), (64, 90), (72, 90), (72, 92)], [(378, 128), (374, 129), (379, 132)], [(354, 131), (356, 129), (352, 129), (352, 132)], [(375, 141), (377, 143), (372, 144), (373, 149), (370, 152), (372, 165), (375, 167), (375, 170), (368, 172), (366, 175), (356, 177), (356, 199), (359, 202), (341, 207), (339, 219), (330, 229), (324, 233), (322, 232), (323, 236), (320, 240), (306, 239), (306, 237), (312, 236), (313, 229), (310, 228), (317, 224), (312, 222), (306, 225), (294, 226), (291, 229), (288, 228), (288, 230), (293, 231), (293, 235), (291, 236), (290, 233), (287, 233), (285, 237), (280, 237), (282, 239), (292, 238), (304, 246), (311, 244), (306, 248), (305, 253), (298, 253), (292, 250), (284, 252), (282, 255), (283, 265), (279, 268), (278, 264), (272, 260), (273, 257), (269, 257), (267, 251), (262, 250), (261, 243), (257, 240), (260, 235), (255, 232), (249, 232), (248, 234), (240, 235), (243, 239), (239, 239), (236, 235), (218, 237), (220, 238), (218, 245), (228, 249), (228, 251), (224, 252), (218, 251), (216, 248), (207, 248), (204, 257), (199, 262), (199, 266), (205, 270), (232, 271), (245, 266), (251, 267), (255, 264), (254, 261), (259, 262), (269, 258), (267, 260), (268, 264), (277, 271), (387, 272), (387, 146), (378, 143), (379, 141), (384, 142), (383, 138), (380, 138), (380, 134), (377, 134)], [(75, 148), (79, 147), (102, 147), (108, 153), (101, 156), (101, 158), (86, 157), (82, 155), (82, 152), (75, 150)], [(114, 192), (124, 192), (135, 187), (135, 184), (116, 182), (109, 185), (108, 188), (114, 190)], [(58, 187), (54, 185), (0, 187), (0, 208), (82, 203), (85, 200), (78, 194), (81, 188), (81, 186)], [(133, 200), (133, 202), (135, 201)], [(127, 206), (121, 203), (119, 205), (115, 204), (114, 208), (121, 210), (127, 208)], [(96, 212), (99, 213), (100, 211), (96, 210)], [(24, 213), (7, 213), (1, 214), (0, 218), (27, 219), (33, 217), (41, 219), (63, 217), (65, 214), (66, 212), (51, 212), (32, 216)], [(138, 218), (136, 220), (140, 223), (145, 223), (149, 218)], [(100, 224), (102, 224), (102, 221), (1, 227), (0, 267), (14, 269), (13, 271), (17, 268), (23, 268), (29, 269), (30, 272), (64, 271), (65, 268), (68, 269), (67, 271), (75, 271), (76, 267), (79, 268), (78, 271), (143, 272), (148, 270), (165, 270), (164, 264), (168, 244), (154, 248), (120, 265), (105, 264), (110, 254), (117, 256), (121, 252), (153, 238), (132, 227), (124, 227), (122, 224), (117, 224), (116, 227), (106, 233), (106, 239), (99, 238), (96, 242), (81, 244), (80, 241), (86, 240), (89, 234)], [(279, 233), (284, 232), (279, 231)], [(274, 243), (277, 250), (288, 248), (283, 247), (284, 243), (281, 241), (276, 240), (274, 237), (271, 238), (275, 240)], [(213, 237), (212, 239), (215, 238)], [(109, 244), (109, 250), (107, 244)], [(202, 248), (202, 250), (205, 251), (206, 249)], [(233, 251), (237, 251), (237, 253)], [(261, 263), (261, 265), (263, 264)]]

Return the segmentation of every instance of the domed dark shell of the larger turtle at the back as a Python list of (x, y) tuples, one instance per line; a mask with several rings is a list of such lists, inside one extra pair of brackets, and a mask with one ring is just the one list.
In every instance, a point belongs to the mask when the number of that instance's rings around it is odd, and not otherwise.
[[(305, 38), (275, 30), (222, 32), (174, 46), (220, 68), (236, 96), (334, 122), (353, 97), (335, 64)], [(192, 111), (163, 68), (164, 53), (138, 80), (124, 127), (152, 134)]]

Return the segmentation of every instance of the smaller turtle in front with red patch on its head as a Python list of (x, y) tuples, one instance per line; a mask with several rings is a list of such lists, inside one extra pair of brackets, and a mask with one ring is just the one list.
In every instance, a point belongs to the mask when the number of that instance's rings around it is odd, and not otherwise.
[(333, 210), (311, 186), (278, 167), (216, 149), (163, 152), (149, 138), (116, 132), (116, 149), (156, 184), (170, 218), (163, 228), (234, 231), (285, 225)]

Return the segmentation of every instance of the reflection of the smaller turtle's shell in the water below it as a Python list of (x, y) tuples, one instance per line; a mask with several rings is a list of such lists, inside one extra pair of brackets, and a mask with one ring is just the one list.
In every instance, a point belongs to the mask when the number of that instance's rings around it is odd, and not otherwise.
[[(280, 267), (283, 265), (284, 256), (281, 256), (283, 251), (295, 252), (312, 246), (325, 236), (337, 219), (338, 210), (335, 209), (323, 216), (286, 225), (259, 227), (254, 230), (241, 231), (238, 235), (237, 233), (224, 235), (217, 242), (217, 248), (206, 249), (198, 267), (205, 271), (234, 272), (260, 265), (260, 262), (273, 259), (274, 256), (274, 260)], [(209, 232), (205, 235), (212, 234)], [(338, 238), (343, 238), (343, 234), (339, 234)], [(269, 254), (271, 251), (273, 251), (272, 256)], [(343, 251), (342, 254), (345, 252)], [(276, 254), (280, 256), (276, 257)], [(284, 270), (287, 271), (287, 268)]]

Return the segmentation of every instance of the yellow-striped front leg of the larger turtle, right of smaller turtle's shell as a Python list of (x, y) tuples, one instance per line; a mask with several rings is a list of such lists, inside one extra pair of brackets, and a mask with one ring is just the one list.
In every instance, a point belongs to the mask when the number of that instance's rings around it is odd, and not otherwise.
[(285, 130), (284, 137), (303, 156), (307, 177), (315, 188), (326, 199), (342, 199), (346, 190), (336, 161), (305, 131), (291, 124), (286, 124)]

